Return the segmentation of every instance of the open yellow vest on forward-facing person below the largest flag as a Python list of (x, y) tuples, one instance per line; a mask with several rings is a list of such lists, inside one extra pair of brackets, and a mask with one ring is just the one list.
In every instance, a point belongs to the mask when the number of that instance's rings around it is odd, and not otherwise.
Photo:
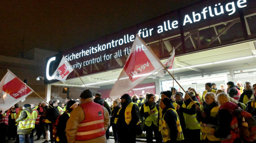
[[(143, 105), (143, 108), (144, 108), (144, 113), (146, 112), (149, 112), (150, 111), (150, 106), (146, 106), (145, 104)], [(153, 111), (155, 111), (154, 113), (148, 115), (146, 117), (146, 120), (145, 120), (145, 125), (150, 127), (152, 122), (157, 126), (157, 116), (158, 116), (158, 110), (157, 110), (157, 107), (155, 106), (153, 108)]]

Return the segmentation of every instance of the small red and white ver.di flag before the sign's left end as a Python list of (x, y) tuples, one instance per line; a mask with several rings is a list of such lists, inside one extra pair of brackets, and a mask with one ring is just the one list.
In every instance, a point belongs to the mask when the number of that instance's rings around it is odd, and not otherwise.
[(67, 59), (63, 56), (58, 68), (54, 71), (53, 75), (55, 76), (55, 80), (66, 81), (68, 75), (73, 71), (72, 66), (67, 61)]

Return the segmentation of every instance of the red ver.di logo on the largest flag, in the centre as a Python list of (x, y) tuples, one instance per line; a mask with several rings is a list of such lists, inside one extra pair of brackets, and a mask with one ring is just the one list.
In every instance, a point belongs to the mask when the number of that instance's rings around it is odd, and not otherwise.
[(148, 74), (155, 70), (155, 67), (144, 53), (143, 48), (140, 48), (143, 46), (136, 45), (135, 52), (131, 53), (130, 58), (123, 67), (132, 82), (139, 79), (141, 77), (140, 75)]

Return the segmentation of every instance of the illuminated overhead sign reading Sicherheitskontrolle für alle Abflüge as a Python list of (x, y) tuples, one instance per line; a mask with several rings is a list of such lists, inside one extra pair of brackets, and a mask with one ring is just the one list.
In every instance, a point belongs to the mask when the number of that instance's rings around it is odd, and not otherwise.
[[(200, 5), (202, 3), (202, 6)], [(65, 58), (70, 62), (75, 70), (83, 70), (83, 75), (97, 73), (88, 66), (102, 64), (96, 67), (99, 71), (110, 70), (123, 66), (122, 57), (130, 54), (130, 47), (135, 39), (136, 33), (143, 40), (159, 39), (164, 34), (180, 32), (183, 29), (195, 26), (197, 24), (216, 20), (217, 18), (227, 17), (238, 13), (239, 9), (247, 7), (246, 0), (237, 1), (203, 1), (198, 5), (201, 7), (180, 9), (180, 14), (176, 12), (163, 15), (150, 21), (141, 23), (139, 26), (131, 27), (118, 33), (100, 38), (96, 41), (86, 43), (73, 49), (63, 52)], [(151, 41), (152, 42), (152, 41)], [(108, 61), (117, 59), (120, 66), (113, 67)], [(120, 60), (118, 60), (120, 59)], [(124, 59), (125, 61), (125, 59)], [(47, 61), (52, 62), (52, 61)], [(46, 77), (50, 81), (53, 78), (49, 75), (49, 66), (47, 63)], [(112, 63), (113, 64), (113, 63)]]

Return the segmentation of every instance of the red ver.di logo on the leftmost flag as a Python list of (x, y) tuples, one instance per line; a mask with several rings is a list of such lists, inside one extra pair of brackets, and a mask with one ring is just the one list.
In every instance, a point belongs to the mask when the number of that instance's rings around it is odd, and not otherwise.
[(31, 89), (17, 78), (14, 78), (3, 86), (3, 91), (10, 94), (13, 98), (18, 99), (28, 94)]

